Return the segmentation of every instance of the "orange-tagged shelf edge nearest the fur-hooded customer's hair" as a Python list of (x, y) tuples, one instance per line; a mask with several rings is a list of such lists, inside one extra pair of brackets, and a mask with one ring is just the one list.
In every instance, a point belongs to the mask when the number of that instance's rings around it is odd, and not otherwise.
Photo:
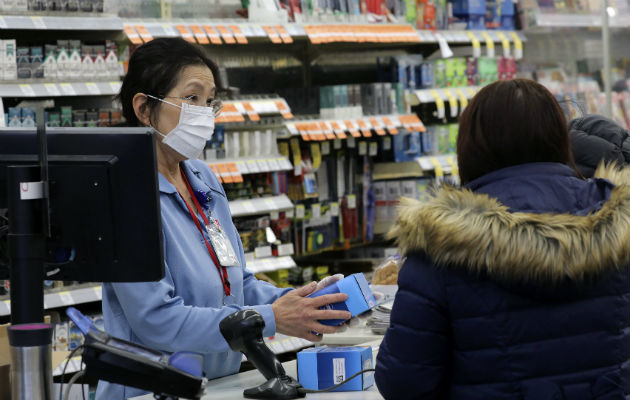
[(351, 137), (372, 137), (372, 131), (377, 136), (398, 134), (398, 128), (404, 127), (411, 131), (424, 131), (426, 128), (415, 114), (404, 115), (369, 115), (348, 119), (313, 119), (287, 122), (285, 124), (291, 135), (301, 136), (310, 141), (331, 139), (346, 139)]

